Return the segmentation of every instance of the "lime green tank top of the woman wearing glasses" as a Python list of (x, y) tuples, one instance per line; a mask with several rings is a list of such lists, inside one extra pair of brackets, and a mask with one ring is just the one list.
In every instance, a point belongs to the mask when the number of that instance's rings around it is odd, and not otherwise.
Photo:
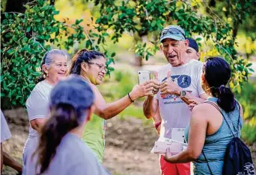
[(88, 147), (96, 153), (100, 163), (103, 162), (105, 148), (105, 129), (106, 121), (97, 115), (92, 115), (92, 118), (85, 125), (85, 132), (82, 135), (82, 141), (88, 144)]

